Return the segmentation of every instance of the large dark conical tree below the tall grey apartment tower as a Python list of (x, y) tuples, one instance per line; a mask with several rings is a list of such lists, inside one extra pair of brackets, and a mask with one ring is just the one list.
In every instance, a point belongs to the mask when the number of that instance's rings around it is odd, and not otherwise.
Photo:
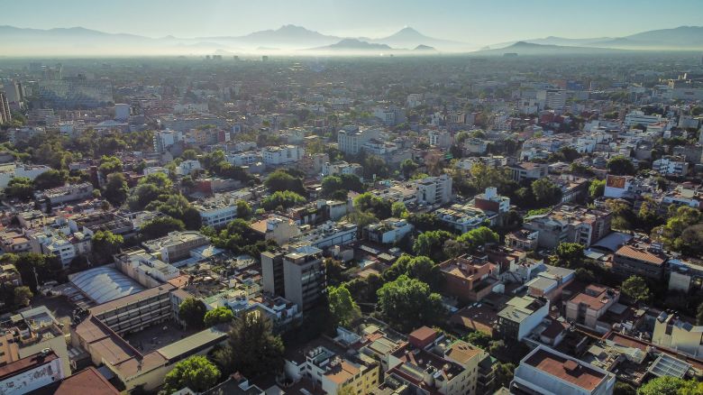
[(234, 320), (230, 338), (215, 352), (215, 362), (227, 374), (240, 372), (253, 379), (272, 377), (283, 369), (283, 341), (273, 334), (270, 320), (246, 313)]

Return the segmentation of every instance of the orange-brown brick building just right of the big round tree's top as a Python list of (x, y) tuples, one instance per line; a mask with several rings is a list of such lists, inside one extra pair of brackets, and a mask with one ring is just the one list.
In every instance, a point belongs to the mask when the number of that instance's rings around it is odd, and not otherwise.
[(444, 277), (444, 291), (461, 303), (483, 299), (499, 283), (498, 265), (485, 258), (463, 255), (442, 262), (440, 270)]

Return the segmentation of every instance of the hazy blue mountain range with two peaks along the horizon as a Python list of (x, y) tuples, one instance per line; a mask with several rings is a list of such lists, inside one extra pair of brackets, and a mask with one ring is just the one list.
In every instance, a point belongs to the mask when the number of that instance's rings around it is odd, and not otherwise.
[[(465, 40), (466, 39), (466, 40)], [(251, 32), (242, 36), (215, 36), (179, 38), (144, 37), (126, 33), (107, 33), (82, 27), (56, 28), (49, 30), (24, 29), (14, 26), (0, 26), (0, 54), (5, 56), (128, 56), (128, 55), (167, 55), (167, 54), (213, 54), (236, 53), (256, 54), (286, 52), (302, 54), (330, 51), (340, 53), (409, 52), (414, 49), (422, 52), (431, 47), (435, 51), (469, 52), (478, 47), (468, 43), (470, 37), (460, 37), (457, 41), (443, 40), (405, 27), (382, 38), (350, 38), (315, 32), (292, 24), (276, 30)], [(674, 29), (640, 32), (625, 37), (596, 37), (571, 39), (546, 37), (541, 39), (502, 42), (491, 45), (479, 53), (504, 53), (508, 47), (518, 45), (520, 51), (532, 53), (566, 51), (557, 47), (568, 47), (571, 52), (586, 53), (585, 49), (613, 50), (703, 50), (703, 27), (680, 26)], [(539, 44), (545, 47), (526, 47), (524, 44)], [(419, 47), (419, 48), (418, 48)], [(579, 48), (580, 50), (576, 50)], [(304, 51), (305, 50), (305, 51)], [(425, 50), (425, 51), (423, 51)], [(493, 50), (498, 50), (493, 52)], [(513, 49), (515, 50), (515, 48)]]

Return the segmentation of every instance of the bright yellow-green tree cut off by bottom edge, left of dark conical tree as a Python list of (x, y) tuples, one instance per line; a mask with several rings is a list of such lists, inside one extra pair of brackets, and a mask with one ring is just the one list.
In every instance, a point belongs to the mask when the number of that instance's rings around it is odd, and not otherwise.
[(202, 355), (194, 355), (183, 360), (166, 374), (164, 379), (164, 394), (171, 394), (184, 388), (203, 392), (214, 387), (220, 378), (220, 371), (215, 363)]

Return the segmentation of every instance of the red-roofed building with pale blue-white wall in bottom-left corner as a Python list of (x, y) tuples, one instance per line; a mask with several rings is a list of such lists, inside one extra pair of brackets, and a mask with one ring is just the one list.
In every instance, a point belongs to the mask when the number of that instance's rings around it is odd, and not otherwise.
[(59, 355), (41, 351), (0, 366), (0, 393), (22, 395), (41, 390), (69, 374)]

